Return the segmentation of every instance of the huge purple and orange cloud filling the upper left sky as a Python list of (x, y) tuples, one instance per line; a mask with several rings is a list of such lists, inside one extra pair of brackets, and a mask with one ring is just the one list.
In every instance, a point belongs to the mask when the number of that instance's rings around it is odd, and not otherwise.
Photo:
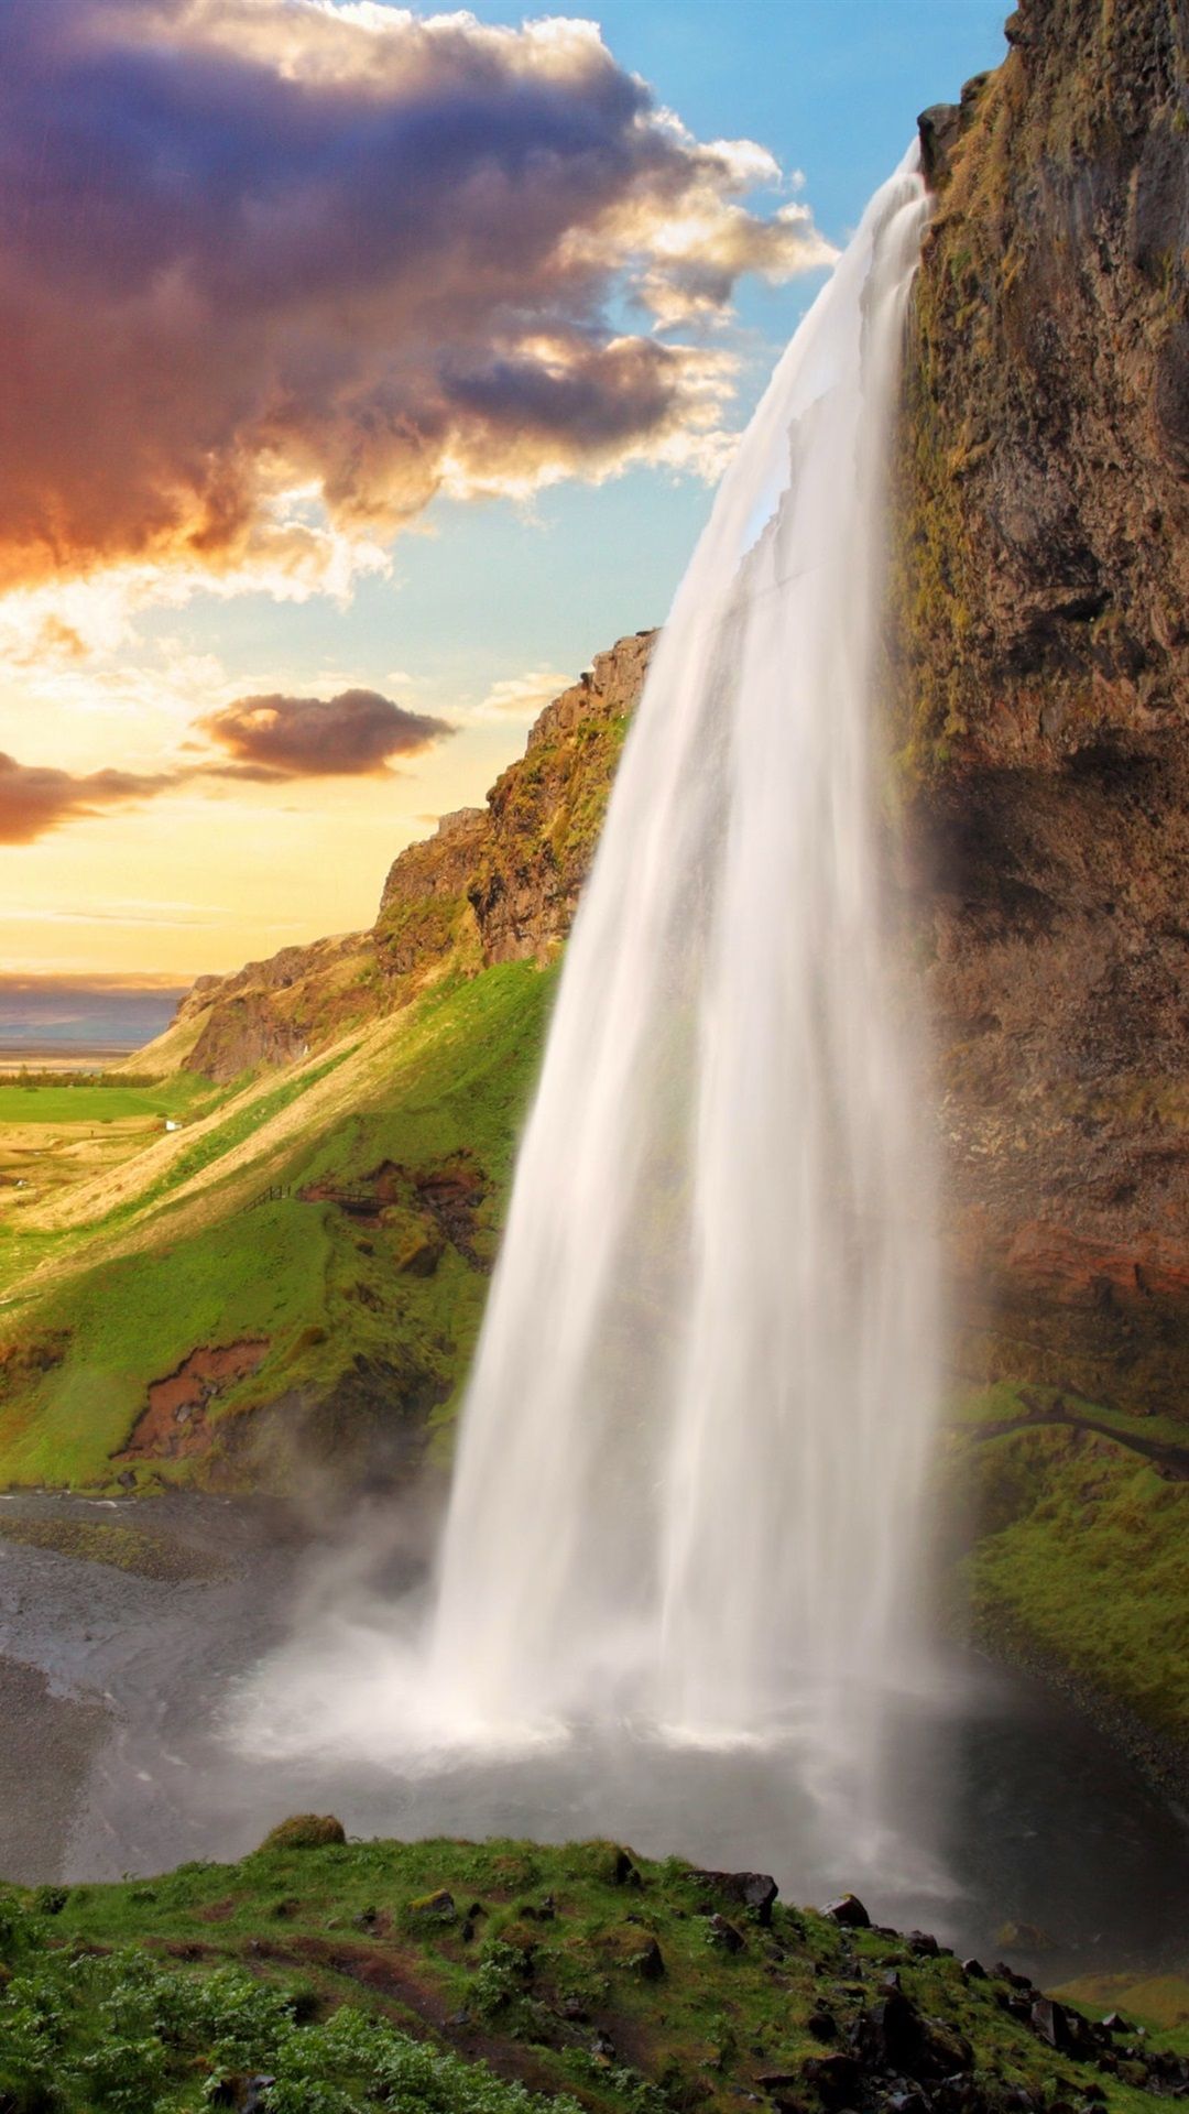
[(343, 592), (440, 490), (717, 463), (734, 361), (666, 332), (827, 262), (776, 180), (586, 21), (0, 6), (0, 588)]

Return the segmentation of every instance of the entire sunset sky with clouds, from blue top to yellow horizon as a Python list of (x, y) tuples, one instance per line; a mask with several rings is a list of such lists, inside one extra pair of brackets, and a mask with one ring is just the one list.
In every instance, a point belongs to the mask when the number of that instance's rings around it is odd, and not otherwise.
[(664, 619), (1003, 4), (0, 0), (0, 1036), (368, 924)]

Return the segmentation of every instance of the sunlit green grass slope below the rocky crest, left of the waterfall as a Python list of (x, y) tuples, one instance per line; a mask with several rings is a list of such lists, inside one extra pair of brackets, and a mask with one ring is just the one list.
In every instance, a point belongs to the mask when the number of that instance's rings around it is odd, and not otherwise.
[[(440, 985), (28, 1213), (2, 1251), (0, 1482), (283, 1484), (317, 1410), (319, 1444), (339, 1404), (381, 1452), (449, 1414), (550, 989), (531, 964)], [(157, 1383), (245, 1342), (267, 1347), (252, 1372), (125, 1452)], [(258, 1408), (267, 1457), (245, 1450)]]

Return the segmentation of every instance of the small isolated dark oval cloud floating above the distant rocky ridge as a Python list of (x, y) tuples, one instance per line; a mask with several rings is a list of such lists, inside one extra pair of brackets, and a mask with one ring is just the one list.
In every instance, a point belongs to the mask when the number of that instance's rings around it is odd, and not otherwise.
[(339, 698), (239, 698), (207, 712), (199, 731), (235, 759), (237, 778), (362, 778), (389, 757), (413, 757), (455, 729), (429, 712), (408, 712), (374, 689)]

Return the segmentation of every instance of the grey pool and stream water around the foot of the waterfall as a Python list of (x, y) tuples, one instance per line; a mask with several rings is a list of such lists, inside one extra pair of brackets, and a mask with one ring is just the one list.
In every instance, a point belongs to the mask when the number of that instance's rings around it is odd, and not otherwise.
[[(958, 1651), (933, 1704), (897, 1727), (903, 1795), (882, 1871), (823, 1852), (783, 1748), (662, 1744), (605, 1723), (565, 1748), (252, 1761), (220, 1738), (228, 1695), (292, 1632), (309, 1581), (355, 1583), (370, 1522), (336, 1539), (262, 1503), (19, 1497), (0, 1520), (144, 1528), (224, 1564), (182, 1583), (0, 1537), (0, 1873), (114, 1879), (235, 1858), (290, 1812), (353, 1835), (603, 1835), (639, 1854), (772, 1871), (789, 1900), (855, 1886), (872, 1913), (1054, 1985), (1185, 1966), (1189, 1829), (1077, 1710)], [(372, 1545), (370, 1592), (417, 1583), (413, 1533)], [(1007, 1939), (1005, 1926), (1020, 1936)], [(1030, 1926), (1032, 1936), (1028, 1936)]]

